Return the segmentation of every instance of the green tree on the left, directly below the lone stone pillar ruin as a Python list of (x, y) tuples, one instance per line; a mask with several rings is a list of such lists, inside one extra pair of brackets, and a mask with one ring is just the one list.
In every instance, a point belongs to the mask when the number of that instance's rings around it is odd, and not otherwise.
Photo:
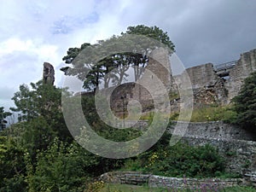
[(20, 85), (20, 91), (12, 98), (16, 108), (11, 109), (21, 113), (22, 118), (22, 122), (14, 127), (21, 127), (20, 142), (30, 155), (34, 168), (38, 152), (48, 148), (55, 137), (67, 143), (73, 141), (61, 111), (61, 91), (38, 81), (31, 83), (31, 89), (26, 84)]

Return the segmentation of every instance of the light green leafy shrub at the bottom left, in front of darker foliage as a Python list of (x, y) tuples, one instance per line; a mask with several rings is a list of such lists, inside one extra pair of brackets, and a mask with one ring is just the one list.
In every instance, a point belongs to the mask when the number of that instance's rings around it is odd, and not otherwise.
[(37, 155), (36, 171), (28, 178), (30, 191), (84, 191), (90, 178), (86, 166), (97, 163), (87, 157), (76, 143), (67, 144), (55, 138)]

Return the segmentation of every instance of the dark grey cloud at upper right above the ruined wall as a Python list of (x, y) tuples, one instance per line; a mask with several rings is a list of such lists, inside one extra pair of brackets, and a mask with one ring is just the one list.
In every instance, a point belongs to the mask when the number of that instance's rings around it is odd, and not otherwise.
[[(255, 48), (255, 5), (242, 2), (219, 3), (193, 15), (188, 25), (175, 34), (178, 53), (187, 66), (236, 59), (241, 52)], [(246, 42), (249, 39), (249, 42)]]

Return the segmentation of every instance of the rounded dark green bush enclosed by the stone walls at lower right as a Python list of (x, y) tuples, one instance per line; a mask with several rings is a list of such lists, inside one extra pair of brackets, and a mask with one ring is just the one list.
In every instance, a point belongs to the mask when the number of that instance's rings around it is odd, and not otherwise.
[(148, 172), (172, 177), (217, 177), (224, 160), (210, 145), (191, 147), (185, 143), (154, 152), (145, 165)]

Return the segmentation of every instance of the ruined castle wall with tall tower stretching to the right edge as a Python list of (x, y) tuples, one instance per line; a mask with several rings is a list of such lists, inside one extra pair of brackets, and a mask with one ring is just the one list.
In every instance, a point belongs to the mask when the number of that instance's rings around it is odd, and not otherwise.
[[(122, 113), (123, 108), (120, 96), (126, 96), (126, 103), (129, 100), (137, 100), (141, 103), (143, 111), (154, 108), (154, 99), (164, 94), (163, 90), (172, 90), (177, 98), (172, 98), (172, 112), (177, 112), (180, 105), (183, 105), (178, 97), (178, 89), (192, 89), (195, 108), (201, 108), (210, 104), (227, 104), (236, 96), (241, 89), (243, 79), (256, 71), (256, 49), (241, 54), (236, 66), (230, 68), (230, 77), (223, 79), (218, 76), (212, 63), (200, 66), (189, 67), (182, 74), (172, 77), (171, 63), (168, 60), (165, 49), (156, 49), (149, 58), (145, 72), (136, 83), (121, 84), (113, 91), (111, 106), (113, 111)], [(148, 70), (148, 71), (147, 71)], [(152, 72), (152, 73), (150, 73)], [(188, 84), (186, 77), (189, 76), (191, 84)], [(164, 87), (160, 87), (160, 82)], [(184, 84), (184, 82), (186, 82)], [(191, 85), (191, 87), (189, 87)], [(148, 90), (150, 87), (151, 91)], [(111, 88), (108, 88), (111, 90)], [(154, 91), (152, 91), (154, 90)], [(191, 98), (192, 99), (192, 98)]]

